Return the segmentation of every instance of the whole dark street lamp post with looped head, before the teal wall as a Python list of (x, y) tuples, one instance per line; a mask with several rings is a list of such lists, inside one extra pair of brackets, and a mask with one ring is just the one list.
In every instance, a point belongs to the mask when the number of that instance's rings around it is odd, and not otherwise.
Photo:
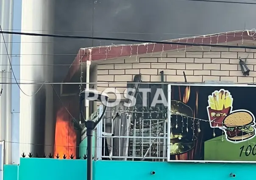
[[(82, 101), (83, 100), (89, 100), (89, 101), (101, 101), (105, 103), (105, 107), (103, 109), (102, 115), (97, 119), (96, 121), (93, 120), (85, 120), (83, 117), (83, 106)], [(84, 124), (86, 127), (86, 136), (87, 136), (87, 180), (92, 180), (92, 136), (93, 131), (97, 127), (98, 123), (100, 123), (100, 120), (102, 120), (107, 105), (109, 102), (109, 96), (105, 93), (101, 93), (96, 90), (84, 90), (80, 94), (80, 113), (83, 117)], [(86, 112), (89, 113), (89, 112)]]

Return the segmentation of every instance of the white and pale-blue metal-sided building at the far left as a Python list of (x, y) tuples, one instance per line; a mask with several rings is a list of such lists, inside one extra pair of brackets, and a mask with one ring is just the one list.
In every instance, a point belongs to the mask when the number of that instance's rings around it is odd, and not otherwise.
[[(1, 0), (0, 4), (0, 25), (3, 31), (53, 32), (52, 1)], [(36, 91), (41, 85), (28, 85), (31, 82), (52, 81), (53, 70), (47, 64), (52, 63), (53, 48), (51, 39), (47, 37), (8, 34), (3, 36), (4, 40), (2, 35), (0, 38), (3, 79), (0, 139), (5, 141), (4, 164), (19, 164), (22, 152), (32, 151), (32, 144), (39, 144), (33, 133), (42, 126), (37, 122), (42, 115), (41, 109), (47, 108), (46, 119), (53, 120), (53, 90), (50, 85), (45, 85), (38, 93)], [(21, 84), (18, 86), (17, 83)], [(36, 95), (33, 95), (34, 93)], [(38, 106), (38, 99), (42, 97), (49, 103), (43, 108)], [(45, 123), (45, 120), (43, 122)], [(45, 139), (47, 141), (47, 137)]]

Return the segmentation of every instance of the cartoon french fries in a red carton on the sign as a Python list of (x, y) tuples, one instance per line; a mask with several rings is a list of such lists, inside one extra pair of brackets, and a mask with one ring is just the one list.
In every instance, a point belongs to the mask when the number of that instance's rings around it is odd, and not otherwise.
[(233, 108), (232, 95), (228, 90), (216, 90), (208, 96), (208, 104), (207, 110), (211, 127), (222, 127), (224, 118)]

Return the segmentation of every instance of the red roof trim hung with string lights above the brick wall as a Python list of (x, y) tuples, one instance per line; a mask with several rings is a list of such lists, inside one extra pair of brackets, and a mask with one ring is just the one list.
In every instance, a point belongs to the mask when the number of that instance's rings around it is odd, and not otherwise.
[[(248, 35), (248, 33), (250, 33)], [(196, 44), (220, 44), (232, 41), (254, 40), (255, 32), (252, 31), (234, 31), (213, 35), (203, 35), (197, 37), (181, 38), (170, 40), (168, 42), (182, 42), (182, 43), (196, 43)], [(178, 45), (178, 49), (184, 49), (185, 46)], [(88, 51), (91, 49), (91, 56)], [(72, 79), (72, 76), (80, 69), (80, 63), (84, 63), (87, 60), (108, 60), (118, 57), (126, 57), (131, 55), (149, 54), (152, 52), (162, 52), (177, 49), (177, 45), (170, 44), (131, 44), (131, 45), (113, 45), (113, 46), (99, 46), (91, 48), (81, 48), (78, 51), (78, 55), (75, 57), (69, 72), (65, 78), (65, 82)]]

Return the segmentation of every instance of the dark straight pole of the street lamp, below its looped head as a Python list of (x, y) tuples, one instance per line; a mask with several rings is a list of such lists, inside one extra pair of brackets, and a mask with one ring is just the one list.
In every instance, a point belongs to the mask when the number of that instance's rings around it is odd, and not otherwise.
[(95, 122), (93, 120), (87, 120), (85, 123), (87, 128), (87, 179), (92, 180), (92, 136), (95, 128)]

